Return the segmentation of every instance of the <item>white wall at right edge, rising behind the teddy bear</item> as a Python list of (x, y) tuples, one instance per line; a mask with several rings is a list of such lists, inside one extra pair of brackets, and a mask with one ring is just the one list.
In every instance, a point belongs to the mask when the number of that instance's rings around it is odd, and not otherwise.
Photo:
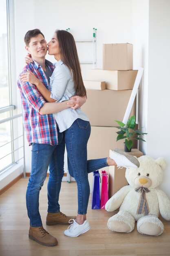
[(170, 197), (170, 1), (149, 1), (147, 154), (165, 157), (161, 188)]

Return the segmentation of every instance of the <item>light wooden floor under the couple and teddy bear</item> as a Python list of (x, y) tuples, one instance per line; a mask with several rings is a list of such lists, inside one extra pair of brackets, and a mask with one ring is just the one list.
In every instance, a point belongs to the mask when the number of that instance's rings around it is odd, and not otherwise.
[[(47, 178), (48, 179), (48, 178)], [(163, 220), (165, 231), (161, 236), (114, 233), (107, 227), (113, 213), (104, 209), (92, 210), (88, 206), (91, 229), (77, 238), (64, 236), (67, 226), (46, 226), (47, 196), (45, 181), (40, 191), (40, 213), (44, 228), (58, 240), (58, 245), (46, 247), (29, 240), (29, 219), (26, 212), (25, 193), (28, 178), (21, 179), (0, 196), (0, 256), (170, 256), (170, 222)], [(60, 207), (63, 213), (75, 215), (77, 186), (75, 182), (62, 183)], [(115, 212), (116, 213), (116, 212)]]

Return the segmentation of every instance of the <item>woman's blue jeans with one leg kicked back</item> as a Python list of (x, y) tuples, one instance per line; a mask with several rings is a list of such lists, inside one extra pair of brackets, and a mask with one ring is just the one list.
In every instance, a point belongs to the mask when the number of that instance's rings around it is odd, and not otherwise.
[(107, 158), (87, 161), (87, 142), (91, 133), (91, 126), (88, 121), (77, 119), (64, 133), (68, 171), (77, 182), (78, 213), (86, 214), (90, 195), (88, 173), (108, 166)]

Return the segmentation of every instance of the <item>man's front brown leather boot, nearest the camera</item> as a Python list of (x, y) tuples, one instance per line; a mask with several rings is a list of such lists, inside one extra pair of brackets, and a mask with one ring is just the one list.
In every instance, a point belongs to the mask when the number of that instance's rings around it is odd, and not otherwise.
[(40, 245), (57, 245), (57, 239), (51, 236), (42, 226), (29, 228), (29, 239), (36, 241)]

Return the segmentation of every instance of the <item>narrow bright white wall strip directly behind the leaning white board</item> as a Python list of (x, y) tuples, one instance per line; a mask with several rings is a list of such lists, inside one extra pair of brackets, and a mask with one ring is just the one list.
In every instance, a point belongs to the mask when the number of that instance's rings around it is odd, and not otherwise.
[[(148, 113), (148, 30), (149, 0), (132, 1), (132, 43), (133, 69), (144, 67), (144, 74), (139, 89), (138, 125), (147, 132)], [(144, 137), (147, 141), (147, 136)], [(146, 155), (147, 143), (139, 141), (139, 149)]]

